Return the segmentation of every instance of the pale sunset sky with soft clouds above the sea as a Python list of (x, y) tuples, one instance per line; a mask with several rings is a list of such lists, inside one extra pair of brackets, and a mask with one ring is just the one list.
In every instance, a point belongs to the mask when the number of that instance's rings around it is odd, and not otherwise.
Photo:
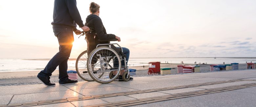
[[(53, 2), (0, 1), (0, 58), (58, 52)], [(90, 2), (100, 5), (107, 33), (121, 38), (131, 58), (256, 57), (256, 0), (77, 0), (84, 23)], [(70, 58), (87, 48), (84, 37), (74, 38)]]

